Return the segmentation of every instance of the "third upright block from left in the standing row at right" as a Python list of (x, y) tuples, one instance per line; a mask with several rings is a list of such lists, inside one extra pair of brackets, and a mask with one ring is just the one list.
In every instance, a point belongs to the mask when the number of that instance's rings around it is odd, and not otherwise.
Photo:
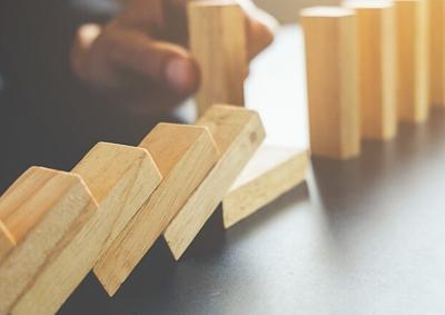
[(428, 117), (427, 1), (395, 0), (398, 119), (424, 122)]

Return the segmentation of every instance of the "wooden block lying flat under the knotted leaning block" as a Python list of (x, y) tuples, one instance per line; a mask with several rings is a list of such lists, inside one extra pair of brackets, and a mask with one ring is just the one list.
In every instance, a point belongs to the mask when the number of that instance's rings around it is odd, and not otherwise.
[(307, 168), (307, 150), (261, 146), (224, 197), (224, 226), (234, 226), (301, 184)]

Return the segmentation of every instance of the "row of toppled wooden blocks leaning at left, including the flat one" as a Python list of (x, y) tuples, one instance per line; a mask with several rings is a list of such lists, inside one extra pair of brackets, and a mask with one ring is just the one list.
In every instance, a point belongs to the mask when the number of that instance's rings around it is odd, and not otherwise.
[(257, 112), (212, 106), (71, 173), (28, 169), (0, 199), (0, 314), (55, 313), (91, 269), (113, 295), (159, 236), (179, 259), (221, 200), (230, 227), (301, 183), (306, 152), (264, 138)]

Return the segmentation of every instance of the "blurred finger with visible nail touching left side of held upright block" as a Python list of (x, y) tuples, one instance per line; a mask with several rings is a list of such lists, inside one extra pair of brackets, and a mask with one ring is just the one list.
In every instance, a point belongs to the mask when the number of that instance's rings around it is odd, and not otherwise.
[(106, 49), (113, 67), (164, 82), (174, 92), (189, 95), (198, 87), (198, 67), (179, 46), (154, 40), (138, 30), (117, 29), (110, 32)]

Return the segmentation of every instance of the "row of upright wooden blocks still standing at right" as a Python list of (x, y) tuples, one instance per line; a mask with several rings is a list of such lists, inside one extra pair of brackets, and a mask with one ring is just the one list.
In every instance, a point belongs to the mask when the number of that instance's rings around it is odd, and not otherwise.
[(300, 12), (310, 148), (347, 159), (445, 106), (445, 1), (346, 1)]

